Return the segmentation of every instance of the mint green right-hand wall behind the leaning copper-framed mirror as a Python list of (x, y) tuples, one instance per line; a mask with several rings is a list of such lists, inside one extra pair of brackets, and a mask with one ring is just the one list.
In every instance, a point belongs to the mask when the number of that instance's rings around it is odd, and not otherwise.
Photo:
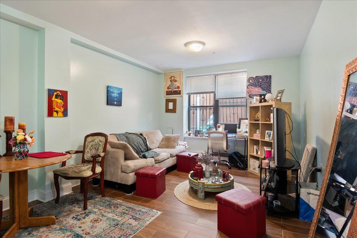
[(357, 57), (356, 9), (357, 1), (323, 1), (300, 56), (301, 144), (317, 147), (317, 166), (323, 168), (345, 65)]

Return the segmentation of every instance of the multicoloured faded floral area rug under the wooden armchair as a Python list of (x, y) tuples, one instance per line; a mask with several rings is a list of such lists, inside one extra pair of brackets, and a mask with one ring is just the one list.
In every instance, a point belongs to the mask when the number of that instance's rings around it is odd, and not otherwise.
[[(73, 192), (34, 207), (32, 217), (56, 216), (56, 224), (21, 228), (16, 238), (130, 238), (161, 212), (88, 192), (88, 209), (83, 210), (83, 194)], [(8, 219), (5, 217), (4, 219)], [(3, 235), (6, 231), (1, 231)]]

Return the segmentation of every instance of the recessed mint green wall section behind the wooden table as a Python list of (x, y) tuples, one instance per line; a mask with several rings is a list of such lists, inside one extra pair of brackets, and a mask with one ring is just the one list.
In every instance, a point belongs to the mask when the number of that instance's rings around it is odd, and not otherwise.
[[(0, 19), (0, 151), (5, 152), (4, 116), (26, 122), (37, 138), (37, 31)], [(37, 152), (39, 143), (29, 147)], [(8, 173), (2, 175), (0, 193), (9, 195)], [(5, 185), (5, 186), (4, 186)], [(37, 169), (29, 170), (29, 191), (37, 188)]]

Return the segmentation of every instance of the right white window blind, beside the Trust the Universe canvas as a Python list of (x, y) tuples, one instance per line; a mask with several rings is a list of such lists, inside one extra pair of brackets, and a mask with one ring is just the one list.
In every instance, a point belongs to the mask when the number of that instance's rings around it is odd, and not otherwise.
[(247, 71), (216, 75), (216, 99), (246, 97)]

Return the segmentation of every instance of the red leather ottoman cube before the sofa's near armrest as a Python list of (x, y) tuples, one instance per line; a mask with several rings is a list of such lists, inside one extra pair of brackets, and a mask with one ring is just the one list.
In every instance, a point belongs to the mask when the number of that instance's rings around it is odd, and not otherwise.
[(147, 166), (135, 172), (136, 195), (158, 198), (166, 190), (166, 168)]

